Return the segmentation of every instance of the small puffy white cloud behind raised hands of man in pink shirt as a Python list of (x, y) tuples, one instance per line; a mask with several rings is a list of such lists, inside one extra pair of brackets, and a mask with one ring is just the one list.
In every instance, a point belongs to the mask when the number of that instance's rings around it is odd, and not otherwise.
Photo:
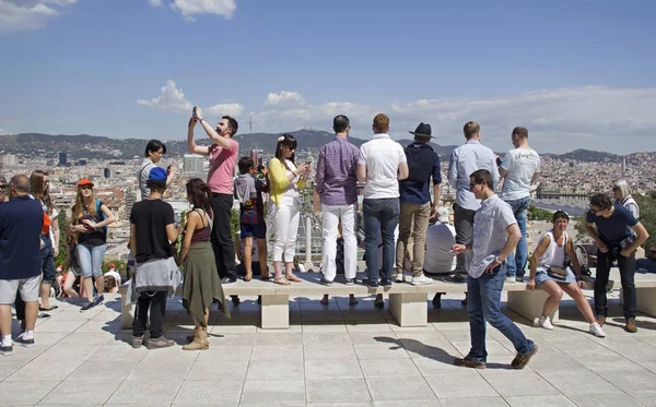
[[(160, 96), (152, 99), (139, 99), (137, 104), (154, 107), (160, 110), (191, 115), (194, 104), (185, 98), (181, 87), (173, 80), (167, 80), (166, 85), (160, 89)], [(222, 116), (239, 116), (244, 112), (244, 106), (238, 103), (218, 104), (203, 109), (203, 116), (220, 118)]]

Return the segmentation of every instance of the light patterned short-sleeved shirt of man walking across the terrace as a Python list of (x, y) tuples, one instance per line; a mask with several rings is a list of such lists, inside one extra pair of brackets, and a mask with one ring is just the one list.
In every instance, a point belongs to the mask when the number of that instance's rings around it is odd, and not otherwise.
[(485, 267), (494, 261), (508, 239), (506, 228), (516, 224), (511, 205), (497, 195), (481, 202), (481, 207), (473, 215), (473, 258), (469, 266), (469, 275), (480, 277)]

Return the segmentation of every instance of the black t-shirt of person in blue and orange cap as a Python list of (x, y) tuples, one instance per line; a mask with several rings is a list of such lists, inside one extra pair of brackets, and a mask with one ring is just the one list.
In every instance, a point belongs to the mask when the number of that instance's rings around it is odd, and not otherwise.
[(130, 224), (137, 229), (137, 263), (171, 258), (166, 225), (174, 224), (173, 206), (162, 200), (144, 200), (132, 206)]

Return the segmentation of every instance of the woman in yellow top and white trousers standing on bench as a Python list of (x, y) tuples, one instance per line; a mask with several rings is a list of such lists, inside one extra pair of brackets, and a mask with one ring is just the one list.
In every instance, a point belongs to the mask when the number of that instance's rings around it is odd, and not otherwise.
[[(278, 137), (276, 158), (269, 161), (269, 183), (271, 204), (269, 214), (273, 226), (273, 271), (274, 282), (284, 286), (290, 282), (301, 283), (293, 274), (296, 254), (296, 234), (298, 232), (298, 189), (305, 187), (309, 163), (296, 167), (294, 151), (296, 139), (291, 134)], [(281, 262), (284, 255), (285, 276), (282, 276)]]

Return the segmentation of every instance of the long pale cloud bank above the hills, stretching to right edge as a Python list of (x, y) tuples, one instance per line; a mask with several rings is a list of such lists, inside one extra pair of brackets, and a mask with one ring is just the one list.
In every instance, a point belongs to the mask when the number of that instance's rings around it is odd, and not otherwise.
[(408, 131), (421, 121), (431, 123), (437, 144), (461, 144), (462, 125), (481, 124), (482, 141), (495, 151), (511, 147), (515, 125), (529, 130), (529, 140), (541, 152), (575, 148), (624, 154), (656, 149), (656, 88), (587, 86), (528, 92), (487, 98), (419, 99), (361, 105), (333, 101), (308, 103), (296, 92), (269, 94), (253, 113), (256, 131), (282, 132), (300, 128), (330, 131), (336, 115), (347, 115), (352, 134), (371, 136), (377, 112), (390, 117), (395, 139), (409, 139)]

